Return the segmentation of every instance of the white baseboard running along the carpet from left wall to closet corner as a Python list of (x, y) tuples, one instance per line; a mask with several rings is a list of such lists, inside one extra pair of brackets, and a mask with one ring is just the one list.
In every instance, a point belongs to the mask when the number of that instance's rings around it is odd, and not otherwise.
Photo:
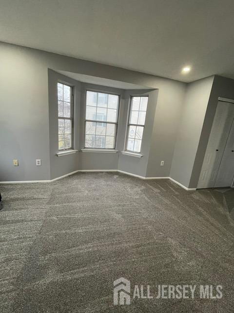
[(120, 170), (77, 170), (65, 175), (62, 175), (60, 177), (51, 179), (51, 180), (22, 180), (22, 181), (0, 181), (0, 184), (29, 184), (29, 183), (44, 183), (44, 182), (53, 182), (59, 179), (63, 179), (67, 176), (76, 174), (78, 172), (119, 172), (122, 174), (126, 174), (129, 176), (133, 176), (133, 177), (137, 177), (139, 179), (170, 179), (171, 181), (175, 182), (177, 185), (179, 185), (180, 187), (184, 188), (187, 191), (193, 191), (196, 190), (196, 188), (187, 188), (184, 185), (182, 185), (180, 182), (176, 181), (175, 179), (172, 179), (171, 177), (144, 177), (144, 176), (140, 176), (137, 174), (133, 174), (133, 173), (129, 173), (129, 172), (124, 172), (124, 171), (120, 171)]

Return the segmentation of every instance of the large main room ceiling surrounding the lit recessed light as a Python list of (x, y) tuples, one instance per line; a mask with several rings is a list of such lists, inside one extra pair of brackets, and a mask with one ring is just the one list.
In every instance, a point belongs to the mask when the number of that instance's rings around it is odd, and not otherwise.
[(1, 0), (0, 41), (185, 82), (234, 78), (234, 0)]

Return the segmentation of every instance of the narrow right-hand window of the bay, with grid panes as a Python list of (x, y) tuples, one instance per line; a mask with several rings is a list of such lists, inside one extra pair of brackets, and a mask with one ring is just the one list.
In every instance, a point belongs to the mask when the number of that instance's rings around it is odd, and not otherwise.
[(140, 153), (148, 97), (132, 97), (128, 122), (127, 151)]

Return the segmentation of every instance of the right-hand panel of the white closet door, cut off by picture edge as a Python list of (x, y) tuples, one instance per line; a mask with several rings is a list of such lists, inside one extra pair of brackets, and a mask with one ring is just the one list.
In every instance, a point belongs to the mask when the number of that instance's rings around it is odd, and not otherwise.
[[(234, 104), (232, 104), (234, 107)], [(215, 187), (230, 187), (234, 178), (234, 121), (224, 149)]]

